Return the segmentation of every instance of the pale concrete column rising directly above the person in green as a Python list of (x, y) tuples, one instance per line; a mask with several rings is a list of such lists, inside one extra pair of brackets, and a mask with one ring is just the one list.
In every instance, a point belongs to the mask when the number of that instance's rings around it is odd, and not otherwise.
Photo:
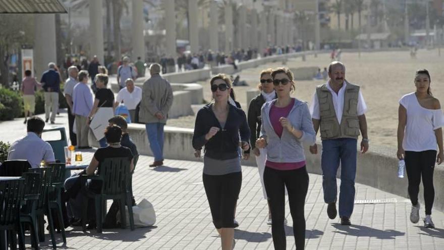
[(131, 37), (133, 43), (133, 58), (135, 61), (140, 57), (142, 62), (145, 62), (145, 38), (143, 36), (143, 0), (133, 0), (133, 23), (131, 30), (133, 36)]

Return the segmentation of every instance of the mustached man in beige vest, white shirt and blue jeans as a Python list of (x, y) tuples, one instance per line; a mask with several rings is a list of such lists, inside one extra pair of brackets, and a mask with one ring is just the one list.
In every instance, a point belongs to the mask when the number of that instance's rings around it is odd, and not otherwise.
[[(367, 106), (358, 85), (345, 80), (345, 66), (335, 61), (328, 66), (329, 80), (316, 87), (310, 107), (314, 130), (322, 139), (322, 187), (330, 219), (337, 215), (336, 174), (341, 165), (339, 216), (342, 225), (351, 225), (355, 199), (357, 139), (362, 134), (361, 153), (368, 150)], [(317, 154), (317, 145), (310, 146)]]

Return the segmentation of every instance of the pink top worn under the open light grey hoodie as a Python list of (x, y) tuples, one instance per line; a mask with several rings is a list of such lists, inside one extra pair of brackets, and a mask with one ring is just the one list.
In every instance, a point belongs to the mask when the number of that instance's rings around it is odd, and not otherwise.
[[(275, 103), (274, 103), (275, 104)], [(291, 109), (295, 105), (295, 98), (292, 98), (292, 101), (287, 107), (279, 108), (275, 105), (271, 106), (270, 109), (270, 122), (271, 126), (274, 129), (274, 132), (278, 134), (279, 137), (282, 136), (282, 132), (284, 131), (284, 127), (282, 126), (279, 119), (281, 117), (287, 117), (290, 114)], [(305, 161), (302, 162), (270, 162), (266, 161), (265, 166), (276, 169), (276, 170), (295, 170), (305, 166)]]

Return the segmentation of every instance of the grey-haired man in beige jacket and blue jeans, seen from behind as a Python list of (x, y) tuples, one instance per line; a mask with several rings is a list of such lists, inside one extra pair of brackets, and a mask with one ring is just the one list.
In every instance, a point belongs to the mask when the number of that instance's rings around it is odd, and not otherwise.
[(149, 146), (154, 155), (150, 167), (163, 165), (163, 126), (173, 104), (173, 89), (170, 82), (160, 76), (160, 65), (151, 64), (151, 78), (143, 83), (139, 122), (145, 123)]

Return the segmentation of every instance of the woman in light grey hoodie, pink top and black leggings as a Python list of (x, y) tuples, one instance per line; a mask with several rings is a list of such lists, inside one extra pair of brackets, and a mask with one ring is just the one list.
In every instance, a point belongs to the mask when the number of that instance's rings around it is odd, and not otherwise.
[(262, 127), (256, 147), (267, 148), (264, 184), (273, 218), (273, 244), (275, 249), (286, 249), (284, 217), (287, 187), (296, 249), (304, 249), (308, 173), (302, 142), (314, 144), (316, 134), (307, 104), (290, 96), (295, 90), (293, 73), (288, 68), (277, 68), (271, 77), (278, 99), (262, 106)]

